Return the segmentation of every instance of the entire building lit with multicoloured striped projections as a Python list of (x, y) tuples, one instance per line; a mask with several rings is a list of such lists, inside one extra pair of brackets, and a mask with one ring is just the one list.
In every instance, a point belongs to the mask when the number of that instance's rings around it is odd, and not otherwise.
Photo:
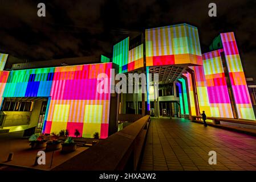
[[(255, 120), (233, 32), (217, 36), (203, 54), (197, 28), (178, 24), (125, 38), (113, 46), (112, 59), (101, 56), (97, 64), (3, 71), (7, 57), (0, 54), (0, 127), (10, 132), (35, 127), (107, 138), (119, 113), (189, 118), (205, 110), (212, 117)], [(98, 93), (100, 73), (113, 89), (112, 68), (158, 73), (159, 84), (147, 75), (146, 94)]]

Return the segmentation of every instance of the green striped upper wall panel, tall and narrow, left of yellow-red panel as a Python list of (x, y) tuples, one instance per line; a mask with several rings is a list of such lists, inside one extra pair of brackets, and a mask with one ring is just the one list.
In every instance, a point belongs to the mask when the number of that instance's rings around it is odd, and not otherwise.
[(128, 71), (129, 37), (113, 47), (113, 63), (119, 65), (119, 73)]

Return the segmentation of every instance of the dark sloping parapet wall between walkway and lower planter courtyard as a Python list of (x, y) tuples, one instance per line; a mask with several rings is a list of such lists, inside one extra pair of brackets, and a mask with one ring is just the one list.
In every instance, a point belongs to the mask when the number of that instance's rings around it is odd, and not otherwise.
[(149, 115), (131, 123), (86, 151), (67, 160), (54, 171), (113, 171), (138, 168), (141, 151), (148, 131)]

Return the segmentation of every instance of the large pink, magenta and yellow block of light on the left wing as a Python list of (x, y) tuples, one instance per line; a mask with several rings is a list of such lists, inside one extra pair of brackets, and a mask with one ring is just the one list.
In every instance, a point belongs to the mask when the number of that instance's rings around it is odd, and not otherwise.
[[(75, 129), (78, 129), (82, 137), (92, 138), (98, 132), (100, 138), (107, 138), (112, 65), (104, 63), (55, 68), (43, 132), (58, 133), (67, 129), (74, 136)], [(97, 76), (100, 73), (108, 77), (108, 93), (97, 92)]]

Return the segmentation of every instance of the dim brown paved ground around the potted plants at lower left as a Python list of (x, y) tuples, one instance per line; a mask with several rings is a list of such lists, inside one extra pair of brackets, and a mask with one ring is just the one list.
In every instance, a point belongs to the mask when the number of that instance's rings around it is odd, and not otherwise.
[[(60, 150), (54, 151), (52, 166), (52, 152), (46, 152), (46, 165), (34, 166), (38, 151), (44, 149), (45, 148), (31, 149), (29, 146), (29, 140), (27, 138), (0, 138), (0, 171), (10, 171), (15, 169), (21, 170), (21, 168), (17, 168), (15, 166), (50, 170), (66, 162), (68, 159), (73, 158), (75, 155), (80, 154), (80, 152), (87, 150), (88, 147), (77, 147), (76, 151), (70, 152), (68, 154), (61, 154)], [(7, 162), (6, 160), (10, 152), (14, 152), (13, 160)]]

